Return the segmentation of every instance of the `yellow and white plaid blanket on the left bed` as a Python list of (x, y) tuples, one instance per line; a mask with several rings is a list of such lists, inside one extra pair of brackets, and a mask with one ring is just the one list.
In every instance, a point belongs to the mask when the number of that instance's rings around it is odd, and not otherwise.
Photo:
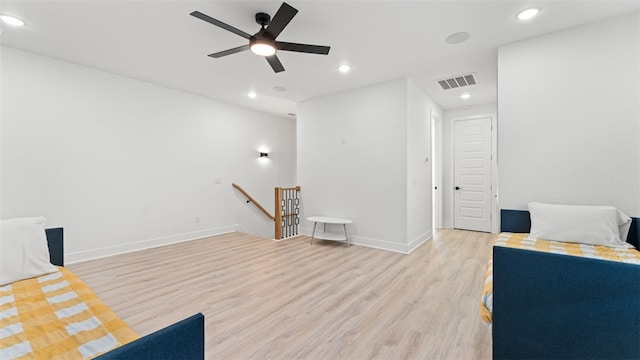
[(138, 338), (71, 271), (0, 287), (0, 359), (87, 359)]

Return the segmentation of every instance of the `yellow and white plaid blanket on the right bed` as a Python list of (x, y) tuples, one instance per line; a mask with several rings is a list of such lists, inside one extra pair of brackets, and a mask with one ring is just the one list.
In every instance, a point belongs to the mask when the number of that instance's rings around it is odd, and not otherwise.
[[(576, 243), (565, 243), (548, 240), (530, 240), (529, 234), (502, 233), (494, 241), (494, 246), (505, 246), (516, 249), (535, 250), (555, 254), (581, 256), (601, 260), (619, 261), (640, 264), (640, 251), (635, 249), (616, 249), (606, 246), (594, 246)], [(480, 318), (491, 327), (493, 313), (493, 254), (487, 264), (484, 276), (484, 287), (480, 304)]]

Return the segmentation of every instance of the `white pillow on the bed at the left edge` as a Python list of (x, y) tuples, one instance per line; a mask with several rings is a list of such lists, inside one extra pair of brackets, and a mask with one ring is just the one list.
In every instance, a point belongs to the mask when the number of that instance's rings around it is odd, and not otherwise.
[(57, 271), (49, 262), (44, 217), (0, 221), (0, 286)]

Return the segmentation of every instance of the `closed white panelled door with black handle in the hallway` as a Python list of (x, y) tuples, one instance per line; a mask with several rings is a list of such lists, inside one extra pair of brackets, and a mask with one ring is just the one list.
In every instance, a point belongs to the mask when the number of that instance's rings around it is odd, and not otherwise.
[(455, 121), (454, 225), (491, 231), (491, 118)]

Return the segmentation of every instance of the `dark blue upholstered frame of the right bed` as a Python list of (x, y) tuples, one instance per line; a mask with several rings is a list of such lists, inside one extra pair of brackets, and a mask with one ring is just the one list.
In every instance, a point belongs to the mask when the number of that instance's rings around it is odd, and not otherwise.
[[(529, 232), (527, 211), (501, 216)], [(640, 359), (640, 266), (494, 247), (492, 336), (494, 359)]]

